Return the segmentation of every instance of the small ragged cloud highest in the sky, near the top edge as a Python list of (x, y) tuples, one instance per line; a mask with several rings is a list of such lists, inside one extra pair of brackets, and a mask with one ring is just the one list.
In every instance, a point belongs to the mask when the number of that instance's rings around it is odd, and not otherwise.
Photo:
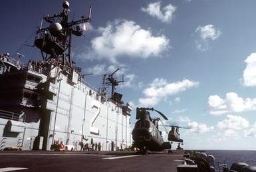
[(142, 7), (142, 11), (148, 13), (148, 15), (152, 17), (156, 17), (164, 23), (170, 23), (172, 21), (176, 9), (177, 7), (172, 4), (162, 7), (161, 9), (160, 2), (150, 3), (146, 8)]

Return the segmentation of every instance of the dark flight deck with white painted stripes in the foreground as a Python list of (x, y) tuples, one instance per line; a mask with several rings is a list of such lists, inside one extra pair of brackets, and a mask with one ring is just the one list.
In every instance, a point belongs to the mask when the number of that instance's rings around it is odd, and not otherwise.
[(0, 171), (177, 171), (182, 153), (1, 151)]

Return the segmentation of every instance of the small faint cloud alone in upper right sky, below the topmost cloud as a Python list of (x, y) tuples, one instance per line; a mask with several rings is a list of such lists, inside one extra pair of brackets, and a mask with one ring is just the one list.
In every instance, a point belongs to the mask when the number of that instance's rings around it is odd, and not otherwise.
[(197, 49), (205, 51), (209, 49), (209, 41), (214, 41), (221, 35), (221, 31), (214, 25), (205, 25), (197, 27), (195, 33), (199, 35), (199, 39), (195, 41)]

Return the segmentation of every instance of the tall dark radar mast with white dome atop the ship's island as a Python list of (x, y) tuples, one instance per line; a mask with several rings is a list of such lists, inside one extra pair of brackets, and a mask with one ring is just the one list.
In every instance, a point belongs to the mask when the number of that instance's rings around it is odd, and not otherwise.
[[(71, 37), (81, 36), (83, 31), (80, 24), (91, 21), (92, 6), (90, 6), (88, 17), (82, 16), (77, 21), (68, 22), (69, 3), (64, 1), (63, 10), (53, 16), (43, 17), (35, 45), (41, 50), (44, 61), (62, 64), (64, 72), (70, 73), (72, 68)], [(43, 28), (43, 20), (49, 23), (49, 27)], [(48, 56), (48, 54), (50, 56)]]

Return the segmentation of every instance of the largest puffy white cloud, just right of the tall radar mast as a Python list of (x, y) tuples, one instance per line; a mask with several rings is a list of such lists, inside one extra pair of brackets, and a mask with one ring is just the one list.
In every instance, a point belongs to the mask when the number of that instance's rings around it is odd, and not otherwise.
[(117, 63), (117, 58), (149, 58), (160, 56), (168, 49), (169, 39), (164, 35), (153, 36), (134, 21), (116, 20), (98, 29), (99, 37), (91, 41), (90, 58), (106, 58)]

